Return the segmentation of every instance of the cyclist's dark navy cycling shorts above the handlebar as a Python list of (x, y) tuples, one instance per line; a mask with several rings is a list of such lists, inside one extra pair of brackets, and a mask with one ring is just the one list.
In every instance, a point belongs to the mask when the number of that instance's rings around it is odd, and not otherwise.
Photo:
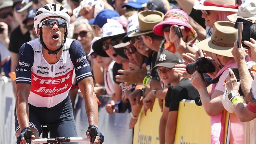
[[(15, 109), (15, 133), (20, 129)], [(77, 137), (76, 125), (73, 116), (72, 103), (69, 96), (54, 107), (35, 107), (29, 104), (30, 127), (42, 133), (42, 124), (48, 124), (50, 138)], [(74, 142), (72, 144), (78, 144)]]

